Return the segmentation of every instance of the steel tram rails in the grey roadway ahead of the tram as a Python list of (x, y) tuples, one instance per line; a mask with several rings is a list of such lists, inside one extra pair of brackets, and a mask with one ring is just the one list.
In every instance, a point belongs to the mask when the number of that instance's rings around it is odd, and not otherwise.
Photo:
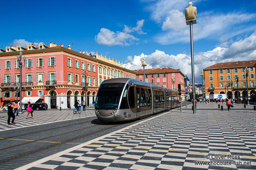
[[(81, 130), (84, 130), (84, 129), (87, 129), (87, 128), (92, 128), (92, 127), (100, 126), (100, 125), (103, 125), (103, 124), (106, 124), (106, 123), (101, 123), (101, 124), (99, 124), (99, 125), (93, 125), (93, 126), (89, 126), (89, 127), (86, 126), (85, 128), (81, 128), (81, 129), (78, 129), (78, 130), (69, 131), (69, 132), (65, 132), (65, 133), (61, 133), (61, 134), (57, 134), (57, 135), (52, 135), (52, 136), (49, 136), (49, 137), (46, 137), (46, 138), (42, 138), (42, 139), (40, 139), (40, 140), (29, 141), (29, 142), (27, 142), (27, 143), (17, 144), (17, 145), (14, 145), (14, 146), (2, 148), (2, 149), (0, 149), (0, 150), (6, 150), (6, 149), (8, 149), (8, 148), (13, 148), (13, 147), (17, 147), (17, 146), (20, 146), (20, 145), (33, 143), (33, 142), (38, 142), (38, 141), (41, 141), (41, 140), (44, 140), (44, 139), (47, 139), (47, 138), (56, 137), (56, 136), (60, 136), (60, 135), (67, 134), (67, 133), (71, 133), (71, 132), (75, 132), (75, 131), (81, 131)], [(71, 142), (71, 141), (74, 141), (74, 140), (77, 140), (77, 139), (80, 139), (80, 138), (84, 138), (84, 137), (86, 137), (86, 136), (90, 136), (90, 135), (93, 135), (93, 134), (95, 134), (95, 133), (99, 133), (99, 132), (101, 132), (101, 131), (110, 130), (110, 129), (115, 128), (115, 127), (118, 127), (118, 126), (120, 126), (120, 125), (121, 125), (121, 124), (117, 124), (117, 125), (114, 125), (114, 126), (111, 126), (111, 127), (108, 127), (108, 128), (101, 129), (101, 130), (99, 130), (99, 131), (93, 131), (93, 132), (91, 132), (91, 133), (88, 133), (88, 134), (85, 134), (85, 135), (81, 135), (81, 136), (78, 136), (78, 137), (72, 138), (72, 139), (70, 139), (70, 140), (66, 140), (66, 141), (64, 141), (64, 142), (57, 143), (57, 144), (55, 143), (55, 144), (53, 144), (53, 145), (51, 145), (51, 146), (43, 147), (43, 148), (41, 148), (41, 149), (37, 149), (37, 150), (35, 150), (35, 151), (31, 151), (31, 152), (28, 152), (28, 153), (26, 153), (26, 154), (22, 154), (22, 155), (17, 156), (17, 157), (8, 158), (8, 159), (5, 159), (5, 160), (0, 161), (0, 164), (6, 163), (6, 162), (9, 162), (9, 161), (12, 161), (12, 160), (21, 158), (21, 157), (26, 157), (26, 156), (29, 156), (29, 155), (31, 155), (31, 154), (35, 154), (35, 153), (38, 153), (38, 152), (40, 152), (40, 151), (53, 148), (53, 147), (56, 147), (56, 146), (61, 145), (61, 144), (66, 144), (66, 143), (69, 143), (69, 142)]]

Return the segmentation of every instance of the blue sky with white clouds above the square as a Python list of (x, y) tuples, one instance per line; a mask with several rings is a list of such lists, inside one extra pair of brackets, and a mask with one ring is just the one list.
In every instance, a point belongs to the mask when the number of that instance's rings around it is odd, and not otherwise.
[[(187, 0), (1, 1), (0, 48), (50, 42), (123, 62), (130, 70), (171, 67), (191, 83)], [(215, 63), (256, 60), (256, 0), (194, 0), (195, 83)]]

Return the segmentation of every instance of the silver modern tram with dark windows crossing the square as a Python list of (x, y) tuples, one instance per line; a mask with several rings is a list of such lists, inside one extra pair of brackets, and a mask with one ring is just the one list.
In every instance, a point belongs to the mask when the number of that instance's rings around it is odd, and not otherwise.
[(178, 106), (178, 91), (131, 78), (113, 78), (100, 84), (95, 113), (103, 122), (148, 117)]

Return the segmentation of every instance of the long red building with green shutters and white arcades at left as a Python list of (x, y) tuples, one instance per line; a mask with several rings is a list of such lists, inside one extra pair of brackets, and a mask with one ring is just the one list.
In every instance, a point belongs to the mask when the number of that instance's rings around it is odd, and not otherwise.
[(98, 52), (94, 56), (88, 55), (52, 42), (49, 46), (28, 44), (27, 48), (7, 46), (5, 50), (0, 49), (1, 106), (19, 100), (19, 52), (22, 52), (24, 65), (22, 98), (39, 97), (49, 108), (72, 108), (76, 100), (85, 100), (87, 105), (92, 105), (103, 80), (136, 78), (133, 71), (122, 67), (122, 63)]

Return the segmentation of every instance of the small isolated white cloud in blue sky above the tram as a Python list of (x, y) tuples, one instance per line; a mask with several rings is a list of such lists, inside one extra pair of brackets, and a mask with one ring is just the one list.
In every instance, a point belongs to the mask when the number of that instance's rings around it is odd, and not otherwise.
[(145, 20), (139, 20), (137, 21), (137, 26), (135, 27), (124, 27), (124, 32), (116, 31), (113, 32), (107, 28), (101, 28), (100, 33), (95, 36), (95, 40), (99, 44), (103, 45), (121, 45), (121, 46), (128, 46), (131, 44), (134, 44), (135, 41), (139, 41), (138, 38), (134, 37), (130, 33), (136, 32), (137, 34), (146, 34), (142, 31), (142, 26), (144, 24)]

